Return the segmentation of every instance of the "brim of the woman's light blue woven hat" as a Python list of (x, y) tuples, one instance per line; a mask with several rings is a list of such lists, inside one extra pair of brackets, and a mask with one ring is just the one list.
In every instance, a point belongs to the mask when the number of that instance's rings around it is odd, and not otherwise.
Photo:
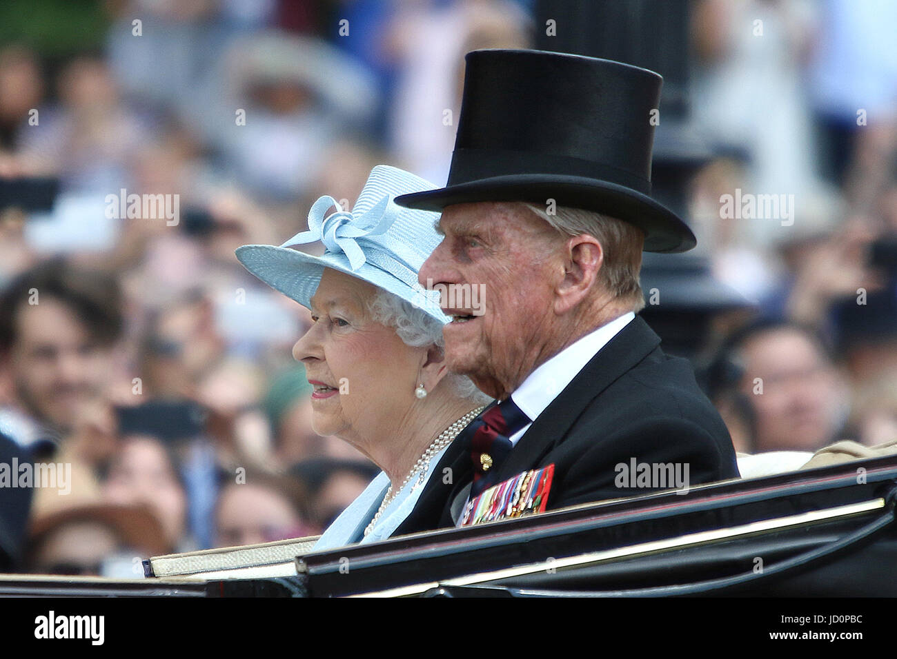
[(237, 247), (236, 255), (250, 273), (305, 308), (311, 308), (311, 296), (318, 290), (324, 269), (332, 268), (411, 302), (414, 307), (422, 308), (440, 323), (445, 324), (449, 320), (438, 303), (422, 296), (423, 287), (413, 289), (392, 274), (370, 264), (362, 264), (360, 268), (353, 270), (348, 257), (343, 254), (314, 256), (290, 247), (243, 245)]

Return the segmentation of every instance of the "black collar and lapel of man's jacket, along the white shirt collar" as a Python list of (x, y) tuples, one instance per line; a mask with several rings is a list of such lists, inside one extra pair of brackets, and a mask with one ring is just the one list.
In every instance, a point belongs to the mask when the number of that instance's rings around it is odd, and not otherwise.
[(635, 316), (588, 361), (561, 394), (533, 421), (517, 446), (499, 465), (496, 482), (509, 479), (527, 469), (535, 469), (588, 404), (659, 344), (660, 337), (641, 316)]

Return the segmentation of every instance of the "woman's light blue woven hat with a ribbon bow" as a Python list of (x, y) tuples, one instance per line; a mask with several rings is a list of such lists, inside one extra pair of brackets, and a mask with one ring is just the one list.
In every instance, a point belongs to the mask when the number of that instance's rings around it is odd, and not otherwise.
[[(439, 291), (425, 290), (417, 281), (423, 262), (442, 239), (434, 228), (440, 213), (402, 208), (393, 201), (397, 195), (435, 187), (402, 169), (378, 165), (370, 170), (352, 212), (337, 210), (325, 216), (340, 205), (333, 197), (322, 196), (309, 211), (309, 230), (280, 247), (238, 247), (237, 258), (250, 273), (303, 307), (310, 307), (324, 268), (333, 268), (388, 290), (448, 323), (440, 309)], [(318, 240), (326, 247), (322, 256), (289, 248)]]

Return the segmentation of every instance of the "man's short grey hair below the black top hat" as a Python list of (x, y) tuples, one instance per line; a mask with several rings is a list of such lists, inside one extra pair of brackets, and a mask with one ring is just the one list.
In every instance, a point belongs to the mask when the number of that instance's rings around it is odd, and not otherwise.
[(645, 306), (641, 292), (639, 270), (645, 233), (634, 224), (618, 220), (600, 212), (558, 206), (549, 213), (543, 206), (522, 203), (554, 229), (565, 236), (588, 233), (597, 238), (604, 250), (605, 261), (598, 272), (598, 280), (615, 298), (631, 304), (639, 312)]

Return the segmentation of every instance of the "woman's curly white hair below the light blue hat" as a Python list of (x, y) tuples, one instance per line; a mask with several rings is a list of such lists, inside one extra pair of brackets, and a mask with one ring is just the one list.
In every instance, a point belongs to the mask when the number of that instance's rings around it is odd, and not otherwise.
[[(414, 307), (411, 302), (388, 290), (378, 289), (374, 299), (370, 301), (369, 310), (374, 322), (395, 327), (396, 334), (405, 345), (412, 348), (425, 348), (435, 344), (439, 346), (440, 350), (445, 350), (446, 343), (442, 337), (442, 323), (422, 308)], [(469, 377), (448, 373), (445, 379), (449, 386), (455, 388), (457, 395), (471, 403), (484, 405), (492, 402), (492, 398), (477, 389)]]

